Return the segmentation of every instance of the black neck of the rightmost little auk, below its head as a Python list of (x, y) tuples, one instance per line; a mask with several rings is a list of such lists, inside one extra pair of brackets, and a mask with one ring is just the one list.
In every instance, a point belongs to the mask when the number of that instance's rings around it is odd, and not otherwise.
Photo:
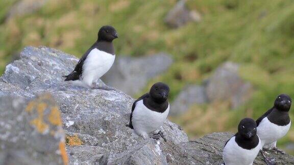
[(270, 122), (277, 124), (277, 125), (280, 125), (280, 126), (285, 126), (290, 123), (289, 112), (279, 111), (279, 109), (277, 109), (275, 107), (274, 107), (273, 111), (271, 112), (271, 114), (269, 114), (267, 116), (267, 119)]

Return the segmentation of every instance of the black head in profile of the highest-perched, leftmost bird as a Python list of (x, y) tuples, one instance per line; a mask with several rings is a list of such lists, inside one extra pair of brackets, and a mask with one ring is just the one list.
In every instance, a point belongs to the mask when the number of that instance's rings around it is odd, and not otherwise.
[(98, 41), (111, 42), (116, 38), (118, 38), (118, 35), (112, 26), (102, 26), (98, 32)]

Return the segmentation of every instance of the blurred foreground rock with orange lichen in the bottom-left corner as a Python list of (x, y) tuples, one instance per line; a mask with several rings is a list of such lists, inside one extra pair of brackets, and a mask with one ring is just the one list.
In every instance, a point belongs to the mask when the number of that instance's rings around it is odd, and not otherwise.
[(27, 105), (23, 97), (0, 97), (0, 164), (63, 164), (65, 134), (50, 95)]

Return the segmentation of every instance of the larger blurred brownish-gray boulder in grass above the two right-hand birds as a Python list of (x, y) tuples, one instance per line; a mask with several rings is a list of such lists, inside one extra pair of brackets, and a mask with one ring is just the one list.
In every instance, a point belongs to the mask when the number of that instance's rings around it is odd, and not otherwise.
[(227, 62), (216, 69), (206, 86), (209, 101), (229, 100), (232, 108), (246, 102), (253, 87), (239, 76), (238, 64)]

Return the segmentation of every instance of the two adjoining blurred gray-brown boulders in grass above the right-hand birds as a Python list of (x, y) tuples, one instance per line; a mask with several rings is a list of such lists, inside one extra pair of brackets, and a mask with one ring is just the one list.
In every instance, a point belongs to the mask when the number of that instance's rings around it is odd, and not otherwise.
[(253, 93), (250, 82), (239, 75), (239, 65), (226, 62), (203, 85), (183, 88), (170, 108), (171, 115), (184, 114), (194, 104), (228, 101), (232, 109), (245, 103)]

